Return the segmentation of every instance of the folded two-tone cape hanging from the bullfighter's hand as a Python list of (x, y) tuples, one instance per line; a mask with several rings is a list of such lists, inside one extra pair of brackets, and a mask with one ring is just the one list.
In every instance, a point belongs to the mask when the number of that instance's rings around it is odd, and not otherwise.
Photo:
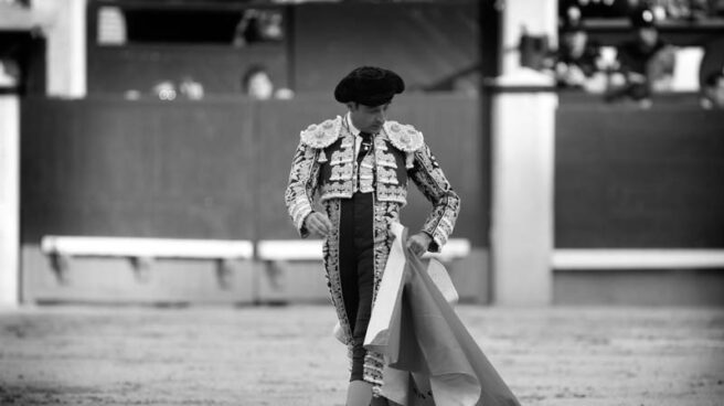
[(405, 406), (520, 406), (425, 265), (395, 235), (364, 345), (385, 356), (382, 396)]

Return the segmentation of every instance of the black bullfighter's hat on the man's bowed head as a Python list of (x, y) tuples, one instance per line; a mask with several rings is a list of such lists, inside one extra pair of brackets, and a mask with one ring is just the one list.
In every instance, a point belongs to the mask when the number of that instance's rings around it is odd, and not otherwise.
[(390, 103), (405, 90), (405, 82), (396, 73), (374, 66), (361, 66), (344, 76), (334, 88), (339, 103), (354, 101), (365, 106)]

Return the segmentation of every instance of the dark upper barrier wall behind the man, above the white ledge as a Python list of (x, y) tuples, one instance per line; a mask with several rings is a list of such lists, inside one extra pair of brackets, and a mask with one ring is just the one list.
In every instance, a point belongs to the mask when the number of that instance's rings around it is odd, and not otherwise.
[[(488, 229), (477, 100), (408, 96), (392, 119), (414, 122), (462, 196), (456, 236)], [(283, 196), (299, 131), (343, 106), (330, 97), (251, 101), (76, 101), (22, 105), (22, 238), (104, 235), (296, 238)], [(38, 119), (43, 117), (43, 119)], [(411, 196), (404, 221), (429, 205)]]

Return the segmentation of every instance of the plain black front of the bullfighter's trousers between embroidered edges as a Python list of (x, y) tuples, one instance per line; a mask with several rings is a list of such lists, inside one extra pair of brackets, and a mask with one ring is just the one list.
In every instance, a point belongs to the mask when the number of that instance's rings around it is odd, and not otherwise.
[(355, 193), (342, 200), (339, 264), (342, 298), (352, 330), (352, 373), (350, 382), (362, 381), (362, 346), (372, 313), (374, 289), (374, 193)]

